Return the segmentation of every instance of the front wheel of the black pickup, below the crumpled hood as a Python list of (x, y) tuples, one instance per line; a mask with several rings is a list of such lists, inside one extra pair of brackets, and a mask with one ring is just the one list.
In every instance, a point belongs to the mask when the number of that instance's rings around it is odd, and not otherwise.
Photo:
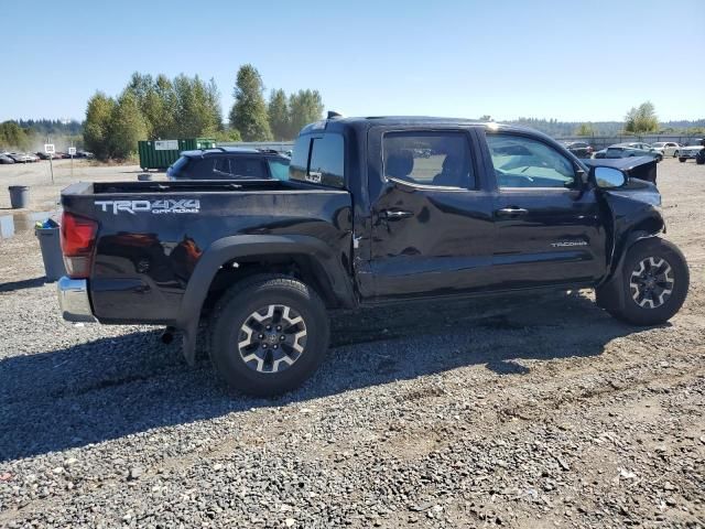
[[(642, 263), (644, 264), (642, 266)], [(658, 290), (655, 290), (655, 294), (651, 293), (650, 299), (647, 299), (648, 296), (643, 295), (644, 283), (640, 283), (642, 279), (634, 274), (639, 270), (648, 272), (648, 269), (654, 264), (659, 266), (654, 267), (654, 270), (660, 270), (663, 273), (655, 274), (659, 278), (655, 280), (655, 289)], [(687, 262), (685, 256), (675, 245), (660, 238), (636, 242), (629, 248), (622, 266), (623, 306), (621, 310), (612, 310), (610, 313), (633, 325), (665, 323), (683, 305), (688, 284)], [(646, 291), (648, 292), (648, 290)], [(669, 291), (670, 293), (668, 293)]]

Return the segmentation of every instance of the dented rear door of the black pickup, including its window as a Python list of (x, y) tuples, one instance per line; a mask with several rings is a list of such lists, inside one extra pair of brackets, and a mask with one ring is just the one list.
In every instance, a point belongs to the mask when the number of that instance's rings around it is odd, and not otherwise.
[(486, 287), (495, 226), (477, 145), (475, 132), (464, 128), (372, 129), (370, 152), (379, 154), (382, 181), (371, 198), (377, 300)]

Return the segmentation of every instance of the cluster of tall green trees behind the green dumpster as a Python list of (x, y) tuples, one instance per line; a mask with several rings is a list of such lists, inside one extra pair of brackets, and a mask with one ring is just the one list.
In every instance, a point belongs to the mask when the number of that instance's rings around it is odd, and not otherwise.
[(128, 159), (139, 140), (215, 138), (217, 141), (290, 140), (306, 123), (321, 119), (323, 101), (317, 90), (286, 96), (272, 90), (269, 104), (254, 66), (237, 73), (235, 102), (226, 126), (220, 93), (214, 79), (181, 74), (170, 79), (135, 72), (118, 97), (97, 91), (89, 100), (84, 122), (86, 148), (97, 158)]

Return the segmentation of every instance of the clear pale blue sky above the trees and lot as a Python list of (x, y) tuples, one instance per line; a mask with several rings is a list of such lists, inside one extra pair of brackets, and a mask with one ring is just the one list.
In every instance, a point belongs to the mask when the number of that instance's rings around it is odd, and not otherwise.
[(0, 121), (83, 120), (135, 72), (215, 78), (238, 67), (317, 89), (345, 116), (662, 121), (705, 118), (705, 0), (1, 2)]

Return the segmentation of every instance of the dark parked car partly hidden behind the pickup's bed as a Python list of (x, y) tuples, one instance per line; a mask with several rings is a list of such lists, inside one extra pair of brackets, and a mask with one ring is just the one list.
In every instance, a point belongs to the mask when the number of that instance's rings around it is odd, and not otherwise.
[(169, 180), (289, 179), (291, 160), (276, 151), (216, 147), (184, 151), (167, 170)]

